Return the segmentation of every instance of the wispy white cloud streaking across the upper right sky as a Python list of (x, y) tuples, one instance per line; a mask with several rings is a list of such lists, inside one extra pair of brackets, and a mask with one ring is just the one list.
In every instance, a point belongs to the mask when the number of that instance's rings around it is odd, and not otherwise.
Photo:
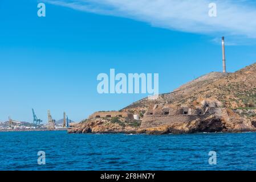
[[(152, 26), (199, 34), (256, 38), (256, 6), (246, 0), (46, 0), (90, 13), (122, 16)], [(217, 17), (210, 17), (209, 3)], [(231, 44), (231, 43), (230, 43)]]

